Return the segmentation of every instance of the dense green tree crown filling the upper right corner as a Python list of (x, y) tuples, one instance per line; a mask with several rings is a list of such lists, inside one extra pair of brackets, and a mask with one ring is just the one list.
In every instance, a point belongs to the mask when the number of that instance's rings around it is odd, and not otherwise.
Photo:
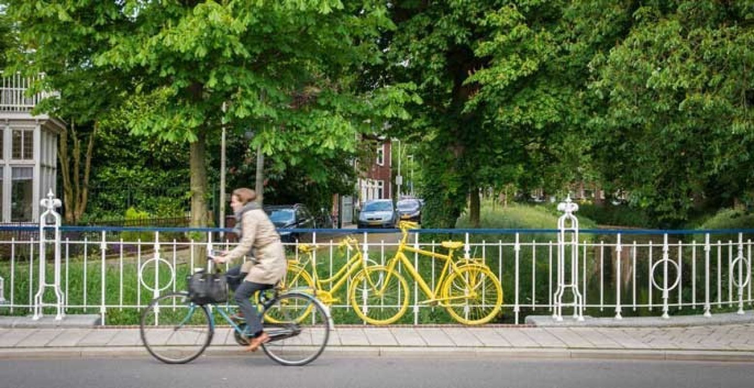
[(642, 2), (590, 63), (606, 109), (590, 121), (605, 177), (661, 223), (751, 199), (754, 5)]

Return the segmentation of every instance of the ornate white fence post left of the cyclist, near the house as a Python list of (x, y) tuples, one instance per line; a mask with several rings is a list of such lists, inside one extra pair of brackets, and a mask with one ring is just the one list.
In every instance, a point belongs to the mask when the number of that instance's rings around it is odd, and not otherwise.
[[(37, 320), (42, 316), (43, 306), (55, 306), (57, 307), (57, 315), (55, 320), (59, 321), (63, 319), (63, 292), (60, 291), (60, 214), (57, 214), (55, 208), (60, 208), (60, 199), (55, 198), (52, 190), (48, 192), (48, 198), (42, 199), (39, 202), (47, 210), (39, 216), (39, 287), (37, 294), (34, 296), (34, 316), (32, 319)], [(48, 217), (52, 216), (55, 223), (48, 223)], [(45, 233), (45, 229), (54, 228), (54, 238), (48, 239)], [(55, 251), (54, 261), (54, 280), (52, 283), (48, 283), (45, 274), (45, 267), (47, 266), (47, 260), (45, 255), (45, 245), (52, 242)], [(44, 303), (44, 289), (52, 287), (55, 291), (55, 303)]]

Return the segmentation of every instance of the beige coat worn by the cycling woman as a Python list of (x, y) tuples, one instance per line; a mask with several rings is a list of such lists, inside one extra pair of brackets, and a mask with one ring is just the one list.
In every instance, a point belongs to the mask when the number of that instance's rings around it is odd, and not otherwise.
[[(287, 260), (275, 226), (262, 209), (252, 209), (241, 216), (241, 242), (228, 252), (228, 260), (235, 260), (250, 254), (254, 249), (254, 260), (241, 266), (247, 282), (274, 285), (285, 275)], [(254, 263), (256, 261), (256, 263)]]

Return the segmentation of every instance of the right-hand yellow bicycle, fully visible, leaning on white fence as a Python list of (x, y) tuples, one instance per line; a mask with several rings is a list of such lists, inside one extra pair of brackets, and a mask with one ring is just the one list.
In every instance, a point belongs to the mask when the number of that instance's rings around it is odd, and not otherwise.
[[(354, 276), (349, 296), (357, 315), (372, 325), (389, 325), (406, 313), (409, 287), (396, 269), (398, 263), (402, 263), (428, 297), (421, 303), (444, 306), (453, 319), (465, 325), (481, 325), (493, 319), (503, 304), (503, 289), (489, 266), (482, 259), (453, 260), (453, 251), (461, 248), (462, 242), (442, 242), (448, 254), (408, 245), (409, 229), (417, 226), (417, 223), (401, 221), (398, 227), (403, 236), (395, 256), (384, 266), (368, 266)], [(445, 261), (434, 290), (421, 278), (404, 251)]]

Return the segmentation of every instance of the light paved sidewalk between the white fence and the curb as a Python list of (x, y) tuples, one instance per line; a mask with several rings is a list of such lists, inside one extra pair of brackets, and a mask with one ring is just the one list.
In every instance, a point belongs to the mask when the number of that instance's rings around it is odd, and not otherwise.
[[(664, 328), (339, 325), (329, 353), (754, 362), (754, 324)], [(219, 328), (207, 354), (244, 354)], [(0, 328), (0, 358), (145, 354), (138, 328)]]

